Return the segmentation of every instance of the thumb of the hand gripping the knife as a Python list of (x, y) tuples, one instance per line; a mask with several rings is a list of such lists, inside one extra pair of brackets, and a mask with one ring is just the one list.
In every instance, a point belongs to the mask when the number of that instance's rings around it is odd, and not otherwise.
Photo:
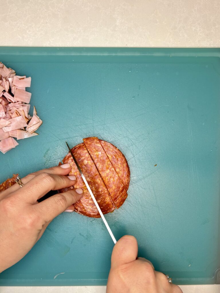
[(138, 243), (134, 236), (125, 235), (116, 242), (111, 255), (111, 268), (130, 263), (138, 256)]

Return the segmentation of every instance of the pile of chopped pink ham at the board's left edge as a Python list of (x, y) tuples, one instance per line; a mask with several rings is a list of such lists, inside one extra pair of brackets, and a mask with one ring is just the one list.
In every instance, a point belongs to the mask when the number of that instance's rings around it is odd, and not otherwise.
[(24, 139), (38, 135), (35, 131), (42, 124), (34, 107), (30, 110), (31, 77), (18, 76), (11, 68), (0, 62), (0, 151), (5, 154), (15, 148), (18, 142), (14, 138)]

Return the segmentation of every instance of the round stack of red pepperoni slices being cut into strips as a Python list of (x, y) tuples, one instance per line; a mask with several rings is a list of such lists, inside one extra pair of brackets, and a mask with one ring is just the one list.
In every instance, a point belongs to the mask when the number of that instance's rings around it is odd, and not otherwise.
[[(72, 148), (72, 153), (103, 214), (121, 207), (128, 196), (130, 182), (128, 163), (121, 151), (113, 144), (97, 137), (87, 137), (83, 139), (83, 143)], [(75, 175), (77, 178), (74, 188), (83, 189), (83, 197), (74, 204), (75, 211), (88, 217), (100, 217), (71, 154), (67, 154), (62, 162), (70, 163), (72, 168), (70, 175)], [(66, 190), (68, 188), (60, 192)]]

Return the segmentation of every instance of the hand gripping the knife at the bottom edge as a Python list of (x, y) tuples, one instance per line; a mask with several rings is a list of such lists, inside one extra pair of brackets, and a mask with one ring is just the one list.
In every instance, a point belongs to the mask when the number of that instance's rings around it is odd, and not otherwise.
[(106, 293), (182, 293), (145, 258), (137, 258), (138, 243), (125, 235), (115, 244)]

